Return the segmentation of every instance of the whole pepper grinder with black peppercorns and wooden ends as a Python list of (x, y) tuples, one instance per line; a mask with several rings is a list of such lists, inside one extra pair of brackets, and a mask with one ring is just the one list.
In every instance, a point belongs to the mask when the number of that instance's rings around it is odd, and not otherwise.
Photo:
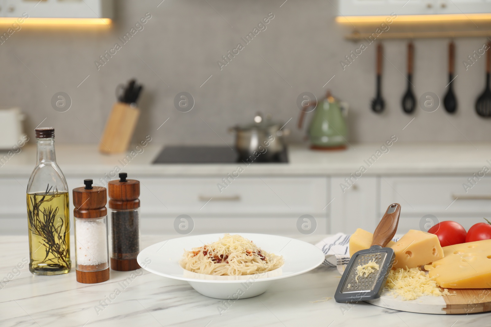
[(119, 180), (111, 180), (109, 188), (111, 269), (131, 271), (140, 268), (136, 257), (140, 252), (140, 182), (126, 179), (119, 173)]

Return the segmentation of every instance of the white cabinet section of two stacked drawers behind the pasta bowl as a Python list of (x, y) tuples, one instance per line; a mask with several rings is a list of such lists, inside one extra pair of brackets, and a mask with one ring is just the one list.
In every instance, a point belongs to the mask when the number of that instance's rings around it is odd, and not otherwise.
[(142, 233), (172, 233), (180, 215), (191, 217), (199, 233), (297, 234), (303, 215), (314, 217), (316, 233), (329, 229), (327, 177), (239, 177), (222, 192), (222, 176), (139, 180)]

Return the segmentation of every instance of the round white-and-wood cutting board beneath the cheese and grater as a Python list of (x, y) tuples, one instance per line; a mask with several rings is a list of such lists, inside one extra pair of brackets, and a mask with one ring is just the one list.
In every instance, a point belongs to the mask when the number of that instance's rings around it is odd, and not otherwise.
[(383, 292), (376, 300), (366, 301), (388, 309), (415, 313), (468, 314), (491, 311), (491, 288), (448, 289), (451, 296), (423, 296), (403, 301), (400, 297)]

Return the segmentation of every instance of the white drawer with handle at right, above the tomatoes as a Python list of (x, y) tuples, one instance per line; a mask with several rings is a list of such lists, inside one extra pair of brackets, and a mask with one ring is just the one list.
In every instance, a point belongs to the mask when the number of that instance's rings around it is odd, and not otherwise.
[[(387, 205), (399, 202), (401, 217), (422, 217), (426, 214), (447, 217), (489, 216), (491, 213), (491, 178), (476, 180), (464, 190), (469, 176), (380, 177), (379, 213)], [(470, 184), (469, 184), (470, 185)], [(457, 200), (455, 200), (457, 198)]]

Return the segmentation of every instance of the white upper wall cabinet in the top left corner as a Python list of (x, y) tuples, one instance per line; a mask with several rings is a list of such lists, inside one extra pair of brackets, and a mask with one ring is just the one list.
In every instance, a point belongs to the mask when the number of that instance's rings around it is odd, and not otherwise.
[(0, 17), (112, 18), (112, 0), (3, 0)]

